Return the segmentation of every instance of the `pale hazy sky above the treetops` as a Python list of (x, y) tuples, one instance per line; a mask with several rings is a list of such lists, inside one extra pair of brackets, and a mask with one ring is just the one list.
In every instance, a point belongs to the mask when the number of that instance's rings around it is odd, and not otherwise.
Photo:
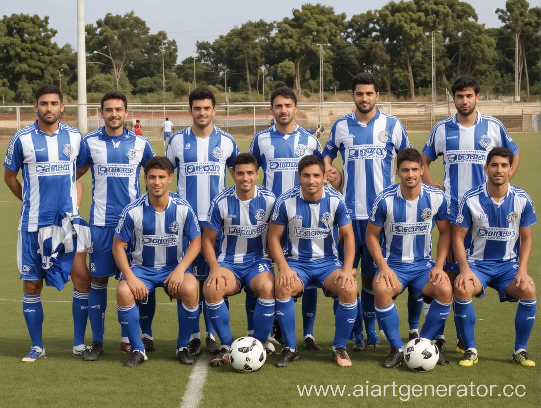
[[(188, 2), (187, 0), (87, 0), (84, 8), (85, 24), (96, 23), (108, 12), (124, 15), (134, 10), (138, 17), (147, 22), (150, 33), (165, 30), (169, 38), (174, 38), (179, 48), (178, 62), (194, 54), (196, 41), (212, 42), (221, 34), (227, 34), (235, 25), (248, 20), (282, 20), (292, 17), (292, 9), (300, 9), (305, 3), (333, 5), (337, 13), (345, 12), (347, 19), (352, 15), (379, 9), (388, 0), (351, 2), (346, 0), (274, 0), (254, 2), (253, 0), (228, 0)], [(479, 23), (488, 27), (500, 27), (502, 23), (496, 15), (497, 8), (505, 8), (505, 0), (469, 0), (479, 17)], [(57, 5), (58, 4), (58, 5)], [(60, 5), (61, 4), (61, 5)], [(256, 5), (257, 4), (257, 5)], [(530, 2), (533, 5), (533, 2)], [(56, 9), (56, 10), (55, 10)], [(36, 2), (36, 0), (5, 1), (2, 14), (37, 14), (49, 16), (49, 27), (58, 30), (53, 39), (59, 46), (70, 43), (77, 48), (77, 1), (55, 3)], [(87, 50), (88, 51), (88, 50)]]

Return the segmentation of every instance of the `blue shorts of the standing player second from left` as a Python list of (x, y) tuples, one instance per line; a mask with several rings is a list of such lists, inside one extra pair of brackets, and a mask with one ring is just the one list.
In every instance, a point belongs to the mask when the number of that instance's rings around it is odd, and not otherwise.
[(113, 257), (114, 226), (90, 225), (92, 251), (89, 255), (89, 270), (92, 277), (115, 276), (118, 272)]

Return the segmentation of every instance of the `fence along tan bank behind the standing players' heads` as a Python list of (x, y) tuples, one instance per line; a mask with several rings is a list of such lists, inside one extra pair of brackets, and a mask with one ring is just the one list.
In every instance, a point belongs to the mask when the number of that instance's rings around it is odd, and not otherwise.
[[(381, 111), (398, 116), (408, 132), (430, 132), (434, 122), (456, 112), (453, 102), (432, 103), (378, 102)], [(139, 119), (143, 134), (151, 139), (160, 137), (160, 129), (165, 118), (169, 118), (175, 131), (192, 125), (188, 103), (168, 103), (165, 105), (129, 105), (128, 127), (133, 129)], [(479, 101), (480, 112), (501, 120), (510, 132), (535, 132), (540, 130), (538, 103), (510, 103), (503, 101)], [(353, 102), (299, 103), (296, 122), (305, 128), (315, 128), (321, 124), (326, 132), (331, 129), (340, 116), (355, 109)], [(88, 131), (103, 126), (100, 118), (100, 105), (88, 105)], [(216, 106), (214, 124), (235, 137), (251, 137), (255, 132), (270, 125), (272, 115), (268, 103), (235, 103)], [(36, 120), (33, 106), (1, 106), (0, 137), (10, 137), (18, 129)], [(62, 121), (77, 126), (77, 106), (65, 106)]]

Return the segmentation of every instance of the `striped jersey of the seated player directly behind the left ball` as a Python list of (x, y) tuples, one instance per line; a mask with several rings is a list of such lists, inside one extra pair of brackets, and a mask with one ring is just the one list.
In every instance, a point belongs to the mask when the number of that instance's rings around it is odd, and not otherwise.
[(206, 226), (222, 232), (219, 262), (251, 264), (267, 258), (268, 224), (275, 200), (272, 192), (259, 185), (251, 200), (241, 201), (235, 186), (214, 197)]

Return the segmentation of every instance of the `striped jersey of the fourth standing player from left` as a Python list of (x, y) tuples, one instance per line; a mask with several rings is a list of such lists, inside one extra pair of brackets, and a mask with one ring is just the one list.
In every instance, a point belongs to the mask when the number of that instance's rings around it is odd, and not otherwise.
[(255, 134), (248, 149), (263, 170), (263, 185), (279, 197), (299, 185), (299, 160), (310, 154), (322, 156), (318, 139), (297, 125), (291, 134), (280, 133), (276, 126)]

